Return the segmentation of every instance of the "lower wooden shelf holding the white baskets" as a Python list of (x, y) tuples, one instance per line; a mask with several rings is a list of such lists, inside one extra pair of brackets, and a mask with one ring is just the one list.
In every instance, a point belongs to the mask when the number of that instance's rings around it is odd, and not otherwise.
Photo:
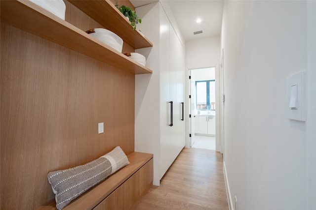
[(1, 22), (133, 74), (153, 71), (28, 0), (1, 0)]

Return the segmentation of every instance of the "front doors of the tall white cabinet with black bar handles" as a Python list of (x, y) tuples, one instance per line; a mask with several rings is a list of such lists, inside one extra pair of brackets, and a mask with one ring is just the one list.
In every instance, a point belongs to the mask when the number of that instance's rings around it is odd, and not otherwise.
[(161, 28), (163, 30), (160, 30), (160, 179), (185, 146), (185, 122), (182, 120), (185, 50), (160, 6)]

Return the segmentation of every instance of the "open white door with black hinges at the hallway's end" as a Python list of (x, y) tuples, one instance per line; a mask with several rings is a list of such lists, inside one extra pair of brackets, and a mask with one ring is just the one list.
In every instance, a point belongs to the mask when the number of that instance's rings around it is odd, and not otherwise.
[(194, 144), (195, 141), (195, 98), (196, 98), (196, 84), (195, 84), (195, 80), (194, 77), (191, 73), (192, 71), (190, 70), (190, 77), (191, 79), (189, 79), (189, 90), (190, 90), (190, 95), (191, 98), (189, 99), (189, 114), (191, 115), (191, 118), (189, 118), (189, 123), (190, 123), (190, 134), (191, 134), (191, 138), (190, 138), (190, 147), (192, 147), (192, 145)]

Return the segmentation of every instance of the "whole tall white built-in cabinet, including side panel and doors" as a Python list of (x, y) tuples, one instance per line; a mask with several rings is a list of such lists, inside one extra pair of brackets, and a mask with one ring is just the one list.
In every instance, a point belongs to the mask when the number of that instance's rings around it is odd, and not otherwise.
[(154, 44), (136, 52), (147, 58), (146, 66), (155, 73), (135, 76), (135, 151), (154, 154), (153, 184), (159, 185), (185, 146), (185, 49), (160, 2), (137, 7), (136, 12), (142, 18), (137, 29)]

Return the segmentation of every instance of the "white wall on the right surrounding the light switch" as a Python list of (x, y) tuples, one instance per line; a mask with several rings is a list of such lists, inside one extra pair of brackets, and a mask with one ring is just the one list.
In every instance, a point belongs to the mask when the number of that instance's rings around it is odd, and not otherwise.
[[(306, 1), (224, 3), (224, 163), (237, 210), (315, 208), (316, 13), (308, 4), (309, 15)], [(286, 117), (286, 77), (301, 70), (306, 122)]]

